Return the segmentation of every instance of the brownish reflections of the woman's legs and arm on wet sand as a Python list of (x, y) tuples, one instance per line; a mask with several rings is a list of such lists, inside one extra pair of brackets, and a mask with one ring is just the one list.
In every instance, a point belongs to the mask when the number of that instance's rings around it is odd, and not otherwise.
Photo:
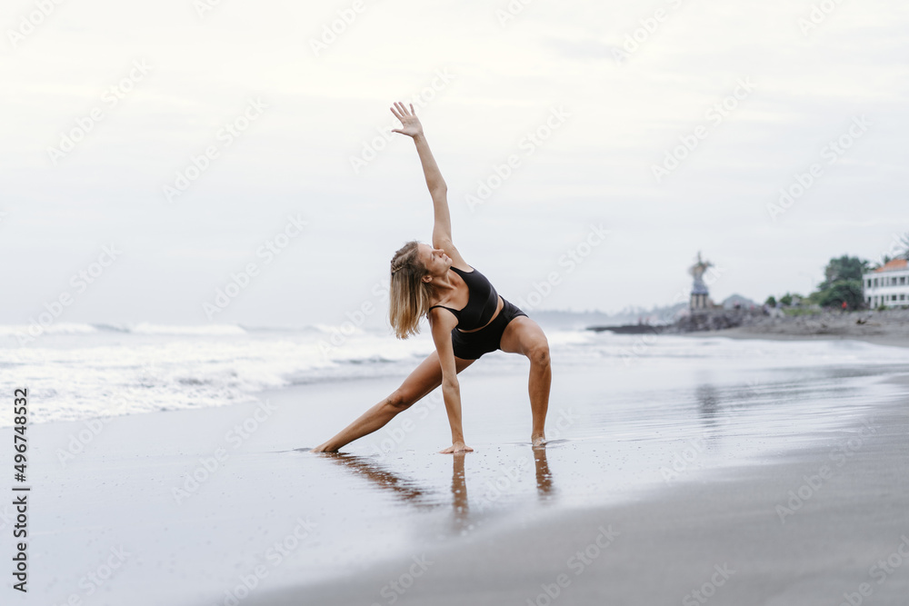
[[(534, 471), (536, 492), (541, 502), (550, 502), (555, 493), (553, 474), (546, 461), (545, 447), (534, 448)], [(329, 461), (336, 462), (355, 475), (365, 478), (376, 487), (391, 492), (395, 498), (417, 508), (437, 508), (445, 506), (440, 502), (437, 492), (432, 487), (421, 487), (411, 480), (391, 472), (370, 457), (326, 452), (323, 454)], [(466, 453), (452, 455), (452, 508), (454, 512), (454, 530), (464, 531), (473, 521), (470, 518), (470, 501), (467, 492), (467, 478), (464, 472)], [(479, 508), (477, 511), (479, 511)]]

